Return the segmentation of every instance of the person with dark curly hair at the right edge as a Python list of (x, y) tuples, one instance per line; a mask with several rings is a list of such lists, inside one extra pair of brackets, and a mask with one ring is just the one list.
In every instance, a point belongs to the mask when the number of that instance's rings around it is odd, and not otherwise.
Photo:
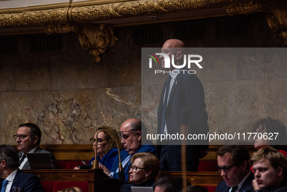
[(255, 149), (270, 147), (287, 156), (287, 129), (283, 122), (270, 117), (261, 119), (254, 123), (253, 133)]

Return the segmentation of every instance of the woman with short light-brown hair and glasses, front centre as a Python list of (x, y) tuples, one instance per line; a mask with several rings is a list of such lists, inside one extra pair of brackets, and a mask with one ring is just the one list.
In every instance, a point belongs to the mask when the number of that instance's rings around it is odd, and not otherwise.
[(130, 182), (125, 184), (120, 192), (131, 192), (132, 186), (153, 187), (154, 181), (160, 169), (160, 163), (157, 157), (152, 153), (136, 153), (131, 160)]

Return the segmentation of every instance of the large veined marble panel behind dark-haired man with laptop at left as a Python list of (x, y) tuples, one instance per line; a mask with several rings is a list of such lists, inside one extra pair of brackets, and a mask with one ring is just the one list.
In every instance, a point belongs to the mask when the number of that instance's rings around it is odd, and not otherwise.
[(1, 93), (1, 144), (15, 144), (18, 125), (37, 124), (41, 144), (88, 144), (97, 124), (97, 89)]

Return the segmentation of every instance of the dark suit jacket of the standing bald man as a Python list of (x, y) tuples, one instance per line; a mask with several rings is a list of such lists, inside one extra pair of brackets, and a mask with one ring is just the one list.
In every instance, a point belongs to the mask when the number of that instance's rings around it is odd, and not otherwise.
[[(181, 70), (187, 70), (182, 68)], [(161, 131), (161, 122), (163, 114), (163, 99), (166, 89), (166, 83), (163, 86), (161, 93), (160, 102), (158, 105), (157, 111), (157, 120), (158, 120), (158, 134)], [(208, 115), (205, 111), (205, 102), (204, 102), (204, 91), (203, 86), (195, 74), (189, 74), (187, 71), (185, 73), (181, 71), (177, 74), (172, 89), (169, 95), (168, 107), (166, 110), (166, 123), (168, 134), (180, 134), (180, 125), (182, 118), (182, 111), (188, 111), (188, 114), (185, 114), (187, 117), (184, 119), (185, 122), (190, 124), (188, 134), (199, 134), (207, 133), (209, 127), (207, 124)], [(185, 136), (187, 138), (187, 135)], [(173, 140), (172, 142), (174, 142)], [(181, 140), (177, 140), (178, 144), (181, 145)], [(160, 156), (161, 143), (158, 143), (158, 157)], [(189, 153), (186, 154), (186, 160), (196, 160), (201, 158), (201, 151), (208, 149), (208, 142), (204, 141), (202, 143), (205, 146), (187, 146), (186, 151)], [(181, 150), (175, 150), (175, 156), (178, 157), (180, 161)]]

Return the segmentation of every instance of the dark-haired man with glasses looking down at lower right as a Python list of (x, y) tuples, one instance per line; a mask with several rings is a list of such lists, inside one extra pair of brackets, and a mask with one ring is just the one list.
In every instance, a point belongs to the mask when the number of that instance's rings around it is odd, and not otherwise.
[(215, 192), (253, 192), (248, 150), (241, 145), (224, 145), (217, 155), (217, 168), (224, 180)]

